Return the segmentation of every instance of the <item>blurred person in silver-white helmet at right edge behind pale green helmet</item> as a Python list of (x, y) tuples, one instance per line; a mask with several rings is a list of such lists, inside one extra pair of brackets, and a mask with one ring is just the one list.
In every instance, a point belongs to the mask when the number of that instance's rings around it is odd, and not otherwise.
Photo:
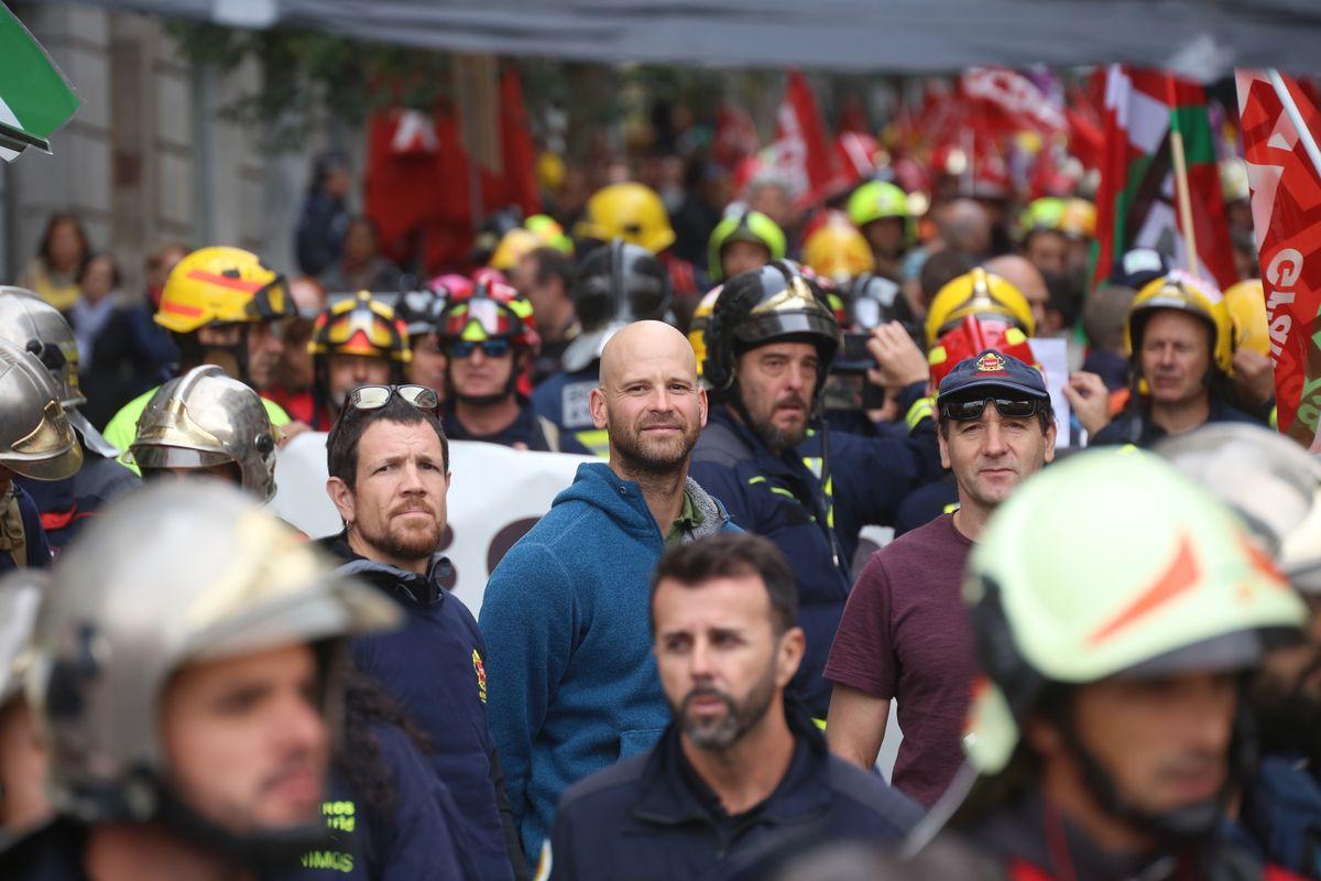
[(1156, 452), (1243, 518), (1308, 605), (1306, 641), (1268, 654), (1248, 692), (1262, 762), (1238, 823), (1272, 860), (1321, 877), (1321, 462), (1248, 424), (1205, 425)]

